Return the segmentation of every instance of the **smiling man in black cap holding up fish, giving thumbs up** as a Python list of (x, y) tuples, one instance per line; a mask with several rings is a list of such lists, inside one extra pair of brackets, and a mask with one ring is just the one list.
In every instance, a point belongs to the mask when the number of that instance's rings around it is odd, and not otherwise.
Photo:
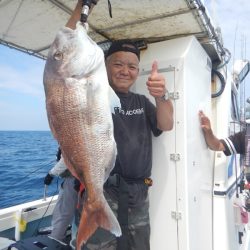
[[(67, 23), (74, 29), (80, 19), (82, 2)], [(106, 54), (110, 86), (120, 98), (121, 109), (113, 115), (118, 155), (110, 178), (104, 185), (105, 197), (118, 216), (122, 237), (99, 228), (84, 249), (150, 249), (148, 186), (151, 185), (152, 138), (173, 128), (173, 105), (168, 99), (163, 75), (157, 63), (148, 77), (149, 94), (156, 107), (143, 95), (130, 92), (139, 75), (140, 51), (130, 40), (114, 42)], [(83, 205), (84, 209), (84, 205)]]

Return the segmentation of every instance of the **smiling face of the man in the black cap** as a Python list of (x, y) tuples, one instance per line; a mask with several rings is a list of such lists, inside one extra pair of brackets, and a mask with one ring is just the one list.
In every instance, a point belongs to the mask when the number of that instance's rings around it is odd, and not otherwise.
[(127, 93), (139, 74), (139, 60), (132, 52), (118, 51), (106, 59), (110, 86), (118, 92)]

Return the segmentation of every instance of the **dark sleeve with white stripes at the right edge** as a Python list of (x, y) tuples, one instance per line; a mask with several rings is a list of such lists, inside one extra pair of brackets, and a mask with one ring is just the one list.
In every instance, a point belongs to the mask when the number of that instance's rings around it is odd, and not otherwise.
[(245, 154), (245, 135), (246, 130), (240, 131), (228, 138), (221, 140), (225, 147), (225, 155)]

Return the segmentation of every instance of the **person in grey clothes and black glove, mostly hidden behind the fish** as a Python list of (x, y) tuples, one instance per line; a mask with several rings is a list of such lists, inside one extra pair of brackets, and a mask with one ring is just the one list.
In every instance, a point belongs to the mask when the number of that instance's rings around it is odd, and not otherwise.
[(63, 158), (61, 158), (60, 149), (57, 153), (57, 161), (58, 162), (56, 165), (44, 178), (44, 184), (50, 185), (54, 176), (60, 176), (64, 178), (51, 221), (51, 236), (57, 240), (64, 241), (67, 227), (73, 222), (78, 195), (77, 191), (75, 190), (75, 178), (70, 174)]

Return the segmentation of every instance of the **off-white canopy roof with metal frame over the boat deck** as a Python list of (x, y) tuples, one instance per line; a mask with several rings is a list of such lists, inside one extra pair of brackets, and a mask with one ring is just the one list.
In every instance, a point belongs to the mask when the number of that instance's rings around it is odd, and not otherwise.
[[(0, 1), (0, 43), (46, 59), (57, 30), (66, 24), (77, 0)], [(194, 35), (212, 62), (221, 61), (223, 45), (200, 0), (99, 0), (88, 23), (99, 44), (117, 39), (147, 43)]]

